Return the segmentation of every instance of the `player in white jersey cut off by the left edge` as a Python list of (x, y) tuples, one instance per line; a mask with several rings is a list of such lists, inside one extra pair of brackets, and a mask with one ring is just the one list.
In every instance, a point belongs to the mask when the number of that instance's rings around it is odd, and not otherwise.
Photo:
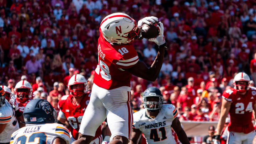
[(14, 109), (5, 95), (0, 87), (0, 144), (9, 144), (11, 134), (19, 128)]

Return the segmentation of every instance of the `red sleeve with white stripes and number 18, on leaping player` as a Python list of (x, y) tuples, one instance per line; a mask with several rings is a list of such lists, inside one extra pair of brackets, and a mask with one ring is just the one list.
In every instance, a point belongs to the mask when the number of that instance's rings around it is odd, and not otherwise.
[(131, 45), (125, 45), (125, 47), (119, 48), (118, 52), (123, 57), (116, 62), (117, 68), (128, 69), (139, 61), (137, 51)]

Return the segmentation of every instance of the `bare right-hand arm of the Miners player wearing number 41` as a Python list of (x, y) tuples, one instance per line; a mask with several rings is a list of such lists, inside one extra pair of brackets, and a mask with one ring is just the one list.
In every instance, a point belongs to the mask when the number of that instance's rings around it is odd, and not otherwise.
[(180, 140), (180, 142), (182, 144), (190, 144), (190, 142), (187, 138), (187, 135), (186, 135), (185, 131), (182, 129), (181, 123), (177, 117), (174, 119), (174, 121), (172, 121), (171, 127), (174, 129), (175, 133), (178, 136), (178, 139)]

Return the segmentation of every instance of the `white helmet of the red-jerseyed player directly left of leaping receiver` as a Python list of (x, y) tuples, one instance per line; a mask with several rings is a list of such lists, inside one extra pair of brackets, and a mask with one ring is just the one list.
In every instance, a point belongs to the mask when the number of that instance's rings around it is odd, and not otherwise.
[[(75, 86), (75, 85), (79, 85), (82, 84), (81, 86)], [(73, 75), (68, 82), (68, 88), (69, 88), (69, 92), (70, 95), (72, 96), (82, 96), (84, 95), (88, 89), (87, 89), (87, 80), (85, 79), (84, 76), (80, 75), (80, 74), (76, 74)]]

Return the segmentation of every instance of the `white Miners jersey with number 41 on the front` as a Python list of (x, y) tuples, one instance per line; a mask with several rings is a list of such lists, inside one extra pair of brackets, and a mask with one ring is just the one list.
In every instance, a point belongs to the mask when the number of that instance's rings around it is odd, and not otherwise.
[(152, 119), (146, 114), (146, 109), (133, 114), (133, 128), (139, 129), (145, 135), (147, 144), (175, 144), (171, 124), (178, 112), (174, 105), (162, 105), (158, 115)]

